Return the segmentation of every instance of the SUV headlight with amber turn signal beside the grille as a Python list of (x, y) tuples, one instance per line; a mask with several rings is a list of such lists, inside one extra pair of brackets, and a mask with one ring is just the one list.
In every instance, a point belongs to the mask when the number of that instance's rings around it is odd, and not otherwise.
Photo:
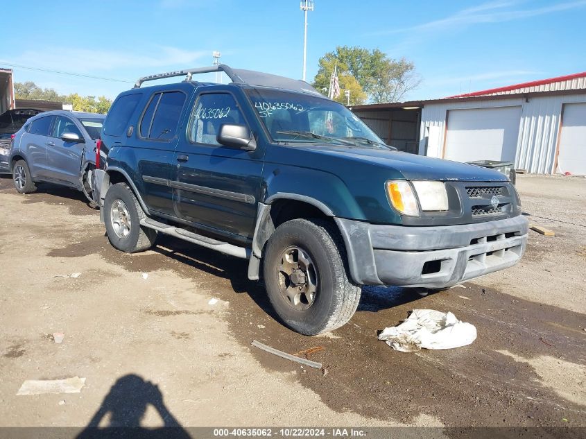
[(390, 204), (402, 215), (419, 216), (420, 207), (422, 212), (441, 212), (449, 209), (443, 182), (391, 180), (386, 182), (386, 191)]

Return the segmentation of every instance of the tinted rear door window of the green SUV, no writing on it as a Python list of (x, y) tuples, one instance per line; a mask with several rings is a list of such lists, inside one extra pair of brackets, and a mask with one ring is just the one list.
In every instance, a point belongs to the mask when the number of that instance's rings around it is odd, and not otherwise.
[(155, 94), (146, 107), (140, 123), (141, 137), (156, 140), (173, 139), (184, 103), (185, 94), (182, 92)]

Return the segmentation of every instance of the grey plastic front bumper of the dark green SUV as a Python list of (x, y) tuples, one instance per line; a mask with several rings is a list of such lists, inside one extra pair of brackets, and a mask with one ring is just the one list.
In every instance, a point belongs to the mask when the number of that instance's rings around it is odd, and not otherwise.
[(517, 264), (528, 221), (409, 227), (336, 218), (354, 282), (445, 288)]

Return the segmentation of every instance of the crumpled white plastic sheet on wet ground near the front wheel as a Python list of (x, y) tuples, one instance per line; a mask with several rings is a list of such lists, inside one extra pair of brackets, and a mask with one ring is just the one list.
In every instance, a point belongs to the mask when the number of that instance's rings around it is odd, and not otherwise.
[(451, 312), (414, 309), (400, 325), (385, 328), (379, 340), (401, 352), (452, 349), (476, 340), (476, 327), (458, 320)]

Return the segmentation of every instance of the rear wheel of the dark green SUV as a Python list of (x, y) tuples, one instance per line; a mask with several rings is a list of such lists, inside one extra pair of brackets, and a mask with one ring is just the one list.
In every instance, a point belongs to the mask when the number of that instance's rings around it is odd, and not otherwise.
[(155, 244), (157, 231), (140, 225), (146, 215), (126, 183), (117, 183), (108, 189), (103, 209), (107, 236), (114, 248), (135, 253)]

